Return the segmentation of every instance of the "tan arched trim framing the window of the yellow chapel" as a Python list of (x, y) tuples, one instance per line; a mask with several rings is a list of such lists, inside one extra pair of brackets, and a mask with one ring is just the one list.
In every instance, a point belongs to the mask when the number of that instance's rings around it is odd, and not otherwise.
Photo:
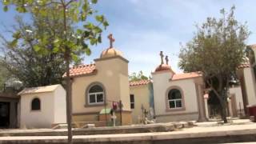
[[(98, 103), (98, 104), (90, 104), (88, 102), (88, 98), (89, 98), (89, 90), (92, 86), (95, 86), (95, 85), (98, 85), (98, 86), (102, 86), (102, 89), (103, 89), (103, 98), (104, 98), (104, 102), (103, 103)], [(86, 94), (85, 94), (85, 99), (86, 99), (86, 103), (85, 103), (85, 107), (94, 107), (94, 106), (104, 106), (106, 104), (106, 88), (105, 86), (102, 84), (102, 82), (91, 82), (89, 86), (86, 87)]]

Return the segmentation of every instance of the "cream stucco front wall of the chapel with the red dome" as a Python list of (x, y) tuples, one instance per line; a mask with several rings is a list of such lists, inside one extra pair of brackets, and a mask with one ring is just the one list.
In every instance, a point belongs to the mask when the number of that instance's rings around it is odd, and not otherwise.
[[(170, 72), (153, 74), (154, 83), (154, 110), (158, 122), (166, 122), (168, 120), (198, 120), (198, 98), (194, 79), (183, 79), (178, 81), (169, 81)], [(185, 110), (169, 110), (166, 102), (167, 90), (175, 86), (182, 89)], [(184, 105), (184, 103), (182, 103)], [(193, 114), (193, 117), (182, 117), (182, 114)], [(159, 118), (168, 116), (165, 118)], [(171, 118), (176, 117), (176, 118)], [(159, 118), (159, 119), (158, 119)]]

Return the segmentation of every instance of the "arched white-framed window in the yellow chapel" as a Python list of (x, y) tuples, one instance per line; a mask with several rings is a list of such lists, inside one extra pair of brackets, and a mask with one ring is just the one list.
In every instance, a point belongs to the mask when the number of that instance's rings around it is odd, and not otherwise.
[(89, 104), (102, 104), (104, 102), (104, 90), (102, 86), (91, 86), (88, 91)]

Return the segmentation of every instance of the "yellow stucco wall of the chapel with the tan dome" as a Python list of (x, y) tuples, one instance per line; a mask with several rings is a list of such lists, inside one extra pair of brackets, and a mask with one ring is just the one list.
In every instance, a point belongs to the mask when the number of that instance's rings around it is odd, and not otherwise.
[[(89, 121), (92, 118), (82, 118), (82, 115), (99, 113), (104, 105), (86, 105), (86, 89), (93, 82), (101, 83), (105, 89), (106, 107), (112, 107), (112, 102), (123, 102), (123, 110), (130, 110), (128, 63), (122, 58), (107, 58), (95, 60), (97, 74), (77, 77), (72, 85), (72, 102), (74, 121)], [(86, 106), (85, 106), (86, 105)], [(94, 118), (93, 118), (94, 119)]]

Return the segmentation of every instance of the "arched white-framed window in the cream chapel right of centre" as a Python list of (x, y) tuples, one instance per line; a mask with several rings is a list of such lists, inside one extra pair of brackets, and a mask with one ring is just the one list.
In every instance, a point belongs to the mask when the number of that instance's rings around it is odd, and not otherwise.
[(182, 108), (182, 94), (178, 89), (172, 89), (168, 93), (168, 103), (170, 109)]

